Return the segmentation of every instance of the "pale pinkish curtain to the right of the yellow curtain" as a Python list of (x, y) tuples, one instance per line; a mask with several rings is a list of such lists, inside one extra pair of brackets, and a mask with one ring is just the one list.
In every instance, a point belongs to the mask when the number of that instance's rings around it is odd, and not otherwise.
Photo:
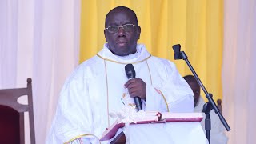
[(222, 66), (223, 113), (230, 144), (255, 143), (256, 2), (226, 0)]

